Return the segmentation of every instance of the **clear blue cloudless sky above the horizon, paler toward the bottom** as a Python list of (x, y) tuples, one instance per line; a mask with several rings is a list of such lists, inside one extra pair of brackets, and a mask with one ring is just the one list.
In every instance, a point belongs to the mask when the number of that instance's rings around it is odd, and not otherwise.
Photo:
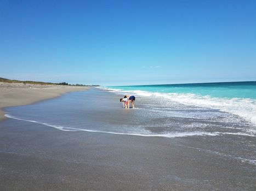
[(145, 85), (256, 80), (256, 1), (0, 0), (0, 77)]

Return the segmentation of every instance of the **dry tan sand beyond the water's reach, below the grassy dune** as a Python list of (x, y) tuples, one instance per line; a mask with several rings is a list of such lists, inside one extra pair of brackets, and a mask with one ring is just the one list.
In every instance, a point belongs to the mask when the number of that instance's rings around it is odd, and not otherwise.
[(84, 91), (88, 88), (84, 86), (0, 82), (0, 121), (5, 118), (4, 112), (2, 111), (5, 107), (32, 104), (40, 100), (58, 97), (62, 93)]

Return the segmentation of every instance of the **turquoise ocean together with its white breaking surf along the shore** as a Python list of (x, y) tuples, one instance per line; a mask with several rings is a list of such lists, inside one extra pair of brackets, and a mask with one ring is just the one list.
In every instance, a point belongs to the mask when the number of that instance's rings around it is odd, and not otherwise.
[(108, 86), (112, 92), (167, 100), (177, 104), (217, 109), (256, 125), (256, 81)]

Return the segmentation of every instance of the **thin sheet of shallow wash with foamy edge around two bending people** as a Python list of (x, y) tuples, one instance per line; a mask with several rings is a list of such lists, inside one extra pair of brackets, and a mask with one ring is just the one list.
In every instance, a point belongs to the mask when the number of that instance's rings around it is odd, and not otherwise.
[(193, 142), (193, 148), (256, 165), (255, 125), (244, 118), (220, 109), (154, 96), (136, 95), (136, 108), (123, 109), (119, 102), (122, 96), (91, 88), (5, 111), (9, 118), (44, 124), (67, 133), (184, 138)]

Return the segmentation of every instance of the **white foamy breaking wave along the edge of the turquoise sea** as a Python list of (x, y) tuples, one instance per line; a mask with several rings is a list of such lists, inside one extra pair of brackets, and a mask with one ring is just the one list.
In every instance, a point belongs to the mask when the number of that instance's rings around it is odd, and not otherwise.
[[(152, 98), (162, 98), (185, 105), (194, 105), (211, 109), (219, 109), (220, 111), (229, 112), (238, 115), (245, 120), (256, 124), (256, 100), (249, 98), (217, 98), (211, 96), (198, 96), (193, 93), (158, 93), (147, 91), (122, 91), (120, 89), (106, 88), (106, 90), (122, 93), (134, 94), (135, 96), (146, 96)], [(256, 128), (250, 129), (256, 132)]]

